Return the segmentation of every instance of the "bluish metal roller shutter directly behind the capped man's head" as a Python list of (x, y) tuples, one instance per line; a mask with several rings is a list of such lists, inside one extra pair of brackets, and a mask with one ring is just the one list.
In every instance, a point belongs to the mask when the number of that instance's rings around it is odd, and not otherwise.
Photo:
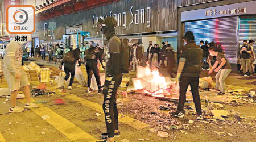
[(185, 22), (184, 28), (194, 33), (198, 45), (201, 40), (222, 45), (229, 62), (237, 64), (237, 17)]

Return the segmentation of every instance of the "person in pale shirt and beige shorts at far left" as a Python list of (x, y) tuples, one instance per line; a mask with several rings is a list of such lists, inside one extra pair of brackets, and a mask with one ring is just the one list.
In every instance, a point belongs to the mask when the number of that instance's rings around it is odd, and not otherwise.
[[(26, 34), (24, 34), (26, 35)], [(22, 36), (24, 36), (22, 35)], [(18, 35), (20, 36), (20, 35)], [(26, 35), (27, 41), (31, 41), (31, 34)], [(5, 49), (5, 57), (3, 58), (4, 67), (3, 74), (11, 91), (11, 107), (9, 112), (23, 112), (24, 108), (16, 106), (16, 99), (20, 87), (23, 87), (23, 93), (27, 100), (25, 108), (38, 107), (35, 103), (31, 103), (30, 99), (30, 82), (27, 73), (22, 68), (22, 45), (27, 41), (11, 40)]]

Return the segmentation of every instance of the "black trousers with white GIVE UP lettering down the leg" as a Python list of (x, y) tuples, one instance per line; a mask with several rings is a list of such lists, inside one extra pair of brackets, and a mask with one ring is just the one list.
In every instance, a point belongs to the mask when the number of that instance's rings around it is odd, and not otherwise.
[(118, 128), (118, 110), (117, 110), (117, 89), (122, 82), (122, 74), (116, 76), (107, 76), (104, 84), (104, 102), (103, 111), (108, 137), (114, 137), (114, 131)]

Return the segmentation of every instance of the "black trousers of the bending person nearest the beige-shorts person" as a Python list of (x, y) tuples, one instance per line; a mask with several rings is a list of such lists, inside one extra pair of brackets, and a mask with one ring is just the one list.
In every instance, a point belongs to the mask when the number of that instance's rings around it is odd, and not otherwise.
[(74, 81), (74, 77), (75, 77), (75, 73), (76, 73), (76, 69), (75, 69), (75, 64), (74, 63), (64, 63), (64, 71), (65, 71), (65, 80), (67, 81), (68, 78), (70, 77), (71, 74), (71, 78), (69, 81), (69, 86), (72, 86), (73, 81)]

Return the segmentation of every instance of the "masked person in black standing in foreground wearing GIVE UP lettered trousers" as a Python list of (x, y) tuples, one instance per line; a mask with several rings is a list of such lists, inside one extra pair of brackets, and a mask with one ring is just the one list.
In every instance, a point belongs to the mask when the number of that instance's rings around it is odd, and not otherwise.
[[(113, 17), (107, 17), (105, 20), (99, 19), (102, 23), (103, 34), (108, 39), (108, 52), (106, 60), (106, 80), (104, 84), (104, 102), (103, 110), (105, 113), (105, 122), (107, 133), (102, 133), (101, 137), (113, 142), (114, 136), (120, 135), (118, 128), (118, 110), (117, 110), (117, 89), (122, 82), (121, 67), (121, 40), (115, 35), (115, 26), (117, 21)], [(128, 40), (123, 40), (127, 43)], [(128, 43), (127, 43), (128, 44)]]

